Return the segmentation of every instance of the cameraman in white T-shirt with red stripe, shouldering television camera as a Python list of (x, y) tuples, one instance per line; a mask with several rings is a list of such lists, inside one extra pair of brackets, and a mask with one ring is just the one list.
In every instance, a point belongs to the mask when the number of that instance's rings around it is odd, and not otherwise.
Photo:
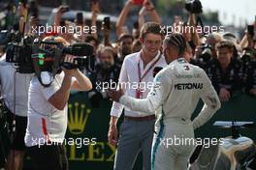
[[(60, 37), (47, 37), (44, 41), (52, 39), (68, 44)], [(64, 62), (72, 63), (73, 56), (66, 55)], [(78, 69), (63, 69), (48, 87), (44, 87), (37, 76), (33, 77), (28, 94), (25, 145), (35, 169), (68, 169), (63, 141), (68, 122), (69, 94), (71, 89), (89, 91), (91, 88), (90, 80)]]

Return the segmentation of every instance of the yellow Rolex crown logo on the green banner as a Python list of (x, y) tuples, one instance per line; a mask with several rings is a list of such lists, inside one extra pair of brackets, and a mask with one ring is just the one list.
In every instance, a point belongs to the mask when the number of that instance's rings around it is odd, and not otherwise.
[[(73, 109), (74, 105), (75, 109)], [(85, 104), (80, 104), (79, 102), (69, 104), (68, 128), (71, 133), (82, 133), (82, 131), (85, 128), (90, 112), (91, 110), (89, 108), (85, 109)]]

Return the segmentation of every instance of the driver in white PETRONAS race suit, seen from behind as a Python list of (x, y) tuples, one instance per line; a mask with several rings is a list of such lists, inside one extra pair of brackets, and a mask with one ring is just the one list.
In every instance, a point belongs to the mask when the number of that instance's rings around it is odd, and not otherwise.
[[(123, 96), (122, 90), (109, 90), (113, 100), (131, 110), (153, 112), (162, 106), (152, 147), (152, 169), (185, 170), (194, 148), (194, 129), (199, 128), (220, 108), (220, 101), (205, 71), (193, 66), (182, 57), (186, 41), (181, 34), (172, 34), (164, 40), (163, 51), (168, 67), (154, 79), (154, 87), (146, 99)], [(205, 105), (199, 115), (191, 121), (191, 115), (199, 99)], [(168, 145), (167, 141), (178, 138), (180, 145)]]

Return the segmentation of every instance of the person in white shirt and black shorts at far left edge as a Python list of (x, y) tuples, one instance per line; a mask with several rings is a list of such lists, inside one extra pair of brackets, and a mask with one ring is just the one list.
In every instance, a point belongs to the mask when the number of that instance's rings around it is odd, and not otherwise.
[[(31, 74), (16, 72), (14, 64), (6, 62), (6, 54), (0, 59), (0, 94), (4, 100), (11, 148), (6, 169), (22, 169), (25, 154), (24, 136), (27, 126), (27, 94)], [(10, 140), (6, 139), (6, 140)]]

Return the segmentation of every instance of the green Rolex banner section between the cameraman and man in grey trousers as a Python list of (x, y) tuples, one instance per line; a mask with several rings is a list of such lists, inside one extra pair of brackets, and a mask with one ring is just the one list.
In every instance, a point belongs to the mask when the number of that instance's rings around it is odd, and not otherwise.
[(115, 147), (108, 143), (110, 109), (109, 99), (92, 108), (84, 93), (71, 96), (66, 134), (70, 169), (112, 169)]

